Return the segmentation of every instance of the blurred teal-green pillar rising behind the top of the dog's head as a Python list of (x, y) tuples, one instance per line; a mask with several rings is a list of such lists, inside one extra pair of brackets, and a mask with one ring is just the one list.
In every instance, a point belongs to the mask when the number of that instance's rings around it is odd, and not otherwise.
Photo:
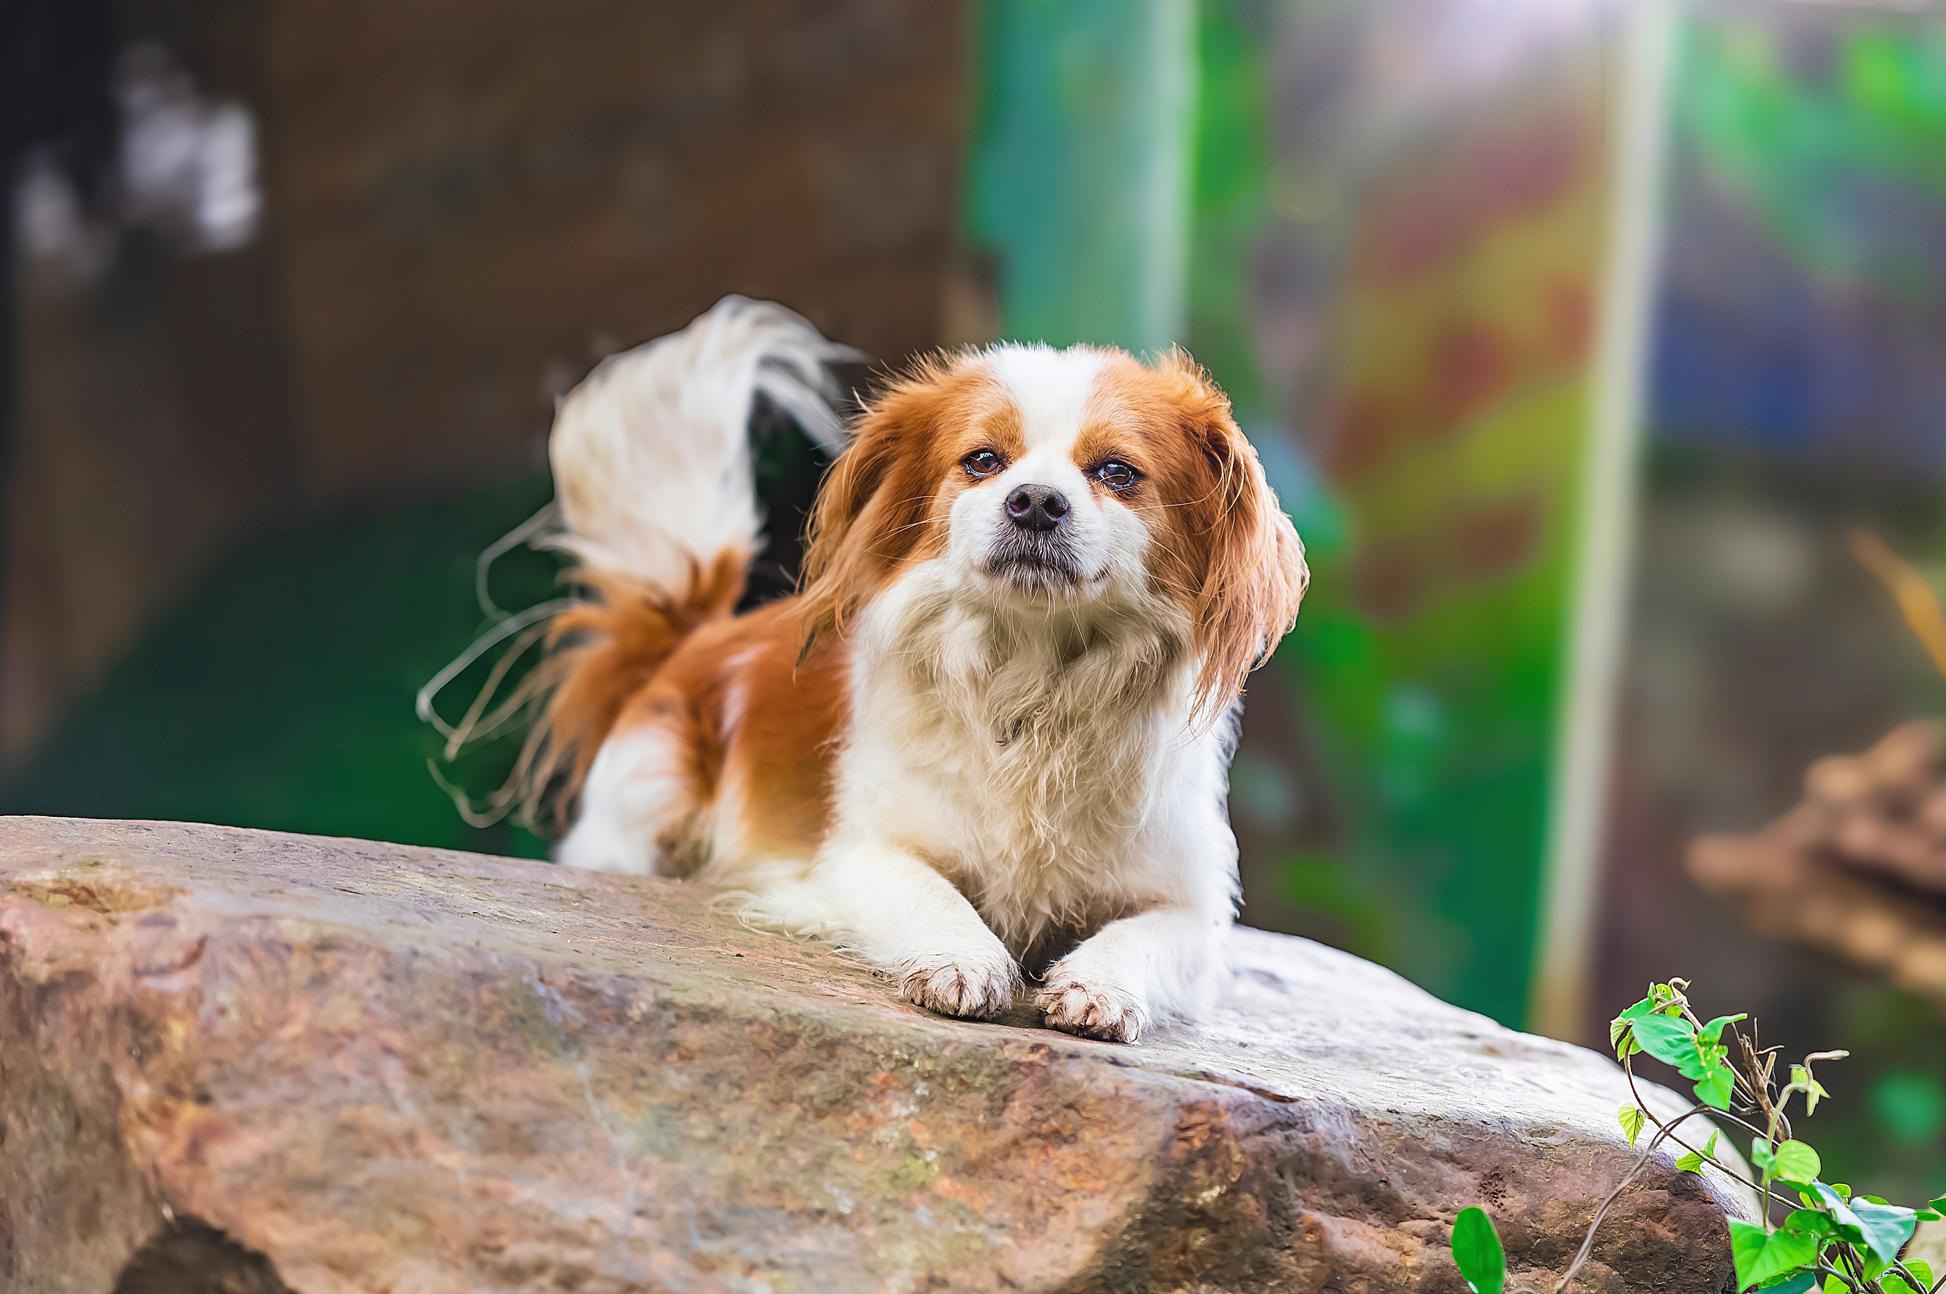
[(1183, 335), (1193, 0), (987, 0), (967, 237), (1000, 337), (1131, 350)]

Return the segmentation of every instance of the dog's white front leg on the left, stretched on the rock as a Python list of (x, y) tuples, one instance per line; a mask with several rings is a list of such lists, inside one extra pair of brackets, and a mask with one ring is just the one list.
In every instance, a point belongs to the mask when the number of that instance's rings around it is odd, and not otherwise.
[(808, 885), (841, 938), (899, 977), (907, 1000), (983, 1020), (1014, 1002), (1014, 955), (965, 895), (909, 850), (883, 841), (831, 846)]

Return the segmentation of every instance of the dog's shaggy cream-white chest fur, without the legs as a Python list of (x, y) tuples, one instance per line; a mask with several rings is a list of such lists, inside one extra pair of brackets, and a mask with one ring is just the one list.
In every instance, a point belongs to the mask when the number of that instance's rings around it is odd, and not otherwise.
[(1220, 815), (1226, 755), (1187, 722), (1179, 621), (996, 605), (909, 572), (856, 638), (839, 821), (928, 858), (1014, 946), (1171, 897), (1158, 843)]

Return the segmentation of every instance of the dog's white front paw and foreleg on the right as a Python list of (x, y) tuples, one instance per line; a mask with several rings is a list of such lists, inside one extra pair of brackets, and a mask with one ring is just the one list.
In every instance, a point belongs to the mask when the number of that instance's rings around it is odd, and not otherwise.
[(1049, 967), (1033, 1004), (1057, 1029), (1133, 1043), (1154, 1020), (1207, 1004), (1230, 922), (1228, 903), (1111, 920)]

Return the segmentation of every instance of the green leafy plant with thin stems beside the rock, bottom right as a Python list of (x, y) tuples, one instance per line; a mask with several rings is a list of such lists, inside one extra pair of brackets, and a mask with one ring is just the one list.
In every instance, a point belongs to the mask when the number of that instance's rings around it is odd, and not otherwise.
[[(1744, 1222), (1730, 1218), (1730, 1253), (1736, 1259), (1738, 1290), (1773, 1290), (1775, 1294), (1938, 1294), (1946, 1286), (1946, 1275), (1938, 1280), (1921, 1263), (1905, 1263), (1899, 1251), (1913, 1238), (1919, 1222), (1930, 1222), (1946, 1214), (1946, 1197), (1928, 1203), (1925, 1208), (1903, 1208), (1888, 1204), (1874, 1195), (1853, 1195), (1843, 1183), (1820, 1179), (1823, 1166), (1818, 1152), (1798, 1140), (1790, 1127), (1786, 1107), (1792, 1097), (1802, 1097), (1804, 1117), (1818, 1109), (1818, 1101), (1829, 1096), (1812, 1072), (1812, 1064), (1841, 1060), (1843, 1051), (1820, 1051), (1790, 1066), (1790, 1080), (1777, 1082), (1777, 1049), (1757, 1045), (1755, 1025), (1738, 1029), (1746, 1016), (1718, 1016), (1703, 1022), (1689, 1010), (1689, 983), (1672, 979), (1666, 985), (1650, 985), (1648, 996), (1615, 1016), (1609, 1024), (1609, 1041), (1615, 1045), (1615, 1059), (1629, 1078), (1631, 1105), (1623, 1105), (1617, 1119), (1629, 1136), (1629, 1146), (1640, 1138), (1642, 1129), (1654, 1127), (1654, 1134), (1642, 1146), (1640, 1158), (1621, 1179), (1621, 1183), (1596, 1208), (1582, 1238), (1580, 1251), (1567, 1273), (1555, 1284), (1559, 1294), (1574, 1280), (1574, 1275), (1588, 1261), (1594, 1247), (1596, 1230), (1609, 1206), (1635, 1181), (1637, 1173), (1648, 1166), (1664, 1142), (1681, 1146), (1683, 1156), (1676, 1168), (1701, 1173), (1705, 1168), (1742, 1181), (1763, 1201), (1763, 1220)], [(1640, 1053), (1670, 1064), (1677, 1074), (1695, 1084), (1697, 1103), (1676, 1119), (1660, 1119), (1642, 1099), (1635, 1084), (1633, 1059)], [(1709, 1115), (1753, 1132), (1749, 1144), (1749, 1164), (1755, 1177), (1740, 1168), (1724, 1164), (1716, 1154), (1720, 1131), (1711, 1129), (1709, 1140), (1701, 1146), (1683, 1140), (1677, 1129), (1689, 1119)], [(1701, 1140), (1695, 1132), (1691, 1140)], [(1777, 1214), (1783, 1212), (1783, 1218)], [(1506, 1253), (1493, 1220), (1479, 1208), (1463, 1208), (1454, 1220), (1452, 1240), (1454, 1263), (1473, 1294), (1500, 1294), (1506, 1282)]]

